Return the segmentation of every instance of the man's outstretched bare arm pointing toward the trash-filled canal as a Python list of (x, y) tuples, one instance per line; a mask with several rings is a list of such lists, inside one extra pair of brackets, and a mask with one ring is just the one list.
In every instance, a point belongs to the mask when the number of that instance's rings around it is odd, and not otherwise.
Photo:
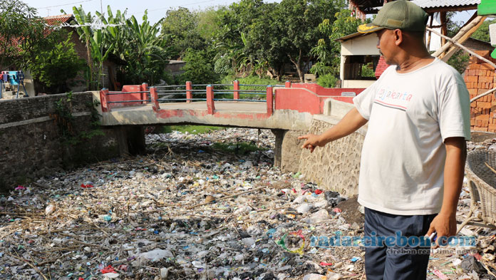
[(301, 146), (302, 149), (310, 149), (310, 152), (314, 152), (315, 147), (324, 147), (331, 141), (350, 135), (367, 122), (368, 120), (363, 118), (356, 108), (353, 108), (344, 115), (337, 125), (329, 128), (321, 135), (307, 134), (300, 136), (298, 139), (306, 139)]

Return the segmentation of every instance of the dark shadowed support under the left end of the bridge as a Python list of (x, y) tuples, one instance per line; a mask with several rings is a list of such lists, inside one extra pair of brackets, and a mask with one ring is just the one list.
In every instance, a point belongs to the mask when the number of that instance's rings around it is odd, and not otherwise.
[(117, 130), (121, 156), (142, 155), (145, 153), (145, 128), (143, 126), (120, 125)]

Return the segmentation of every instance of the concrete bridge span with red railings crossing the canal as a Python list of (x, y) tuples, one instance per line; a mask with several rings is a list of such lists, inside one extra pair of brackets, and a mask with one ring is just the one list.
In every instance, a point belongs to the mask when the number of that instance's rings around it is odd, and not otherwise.
[[(200, 87), (202, 89), (195, 89)], [(222, 89), (225, 87), (232, 89)], [(243, 87), (261, 90), (243, 90)], [(353, 96), (362, 90), (289, 82), (276, 86), (240, 85), (237, 81), (232, 85), (192, 85), (189, 82), (155, 87), (125, 85), (119, 92), (100, 90), (102, 125), (187, 123), (306, 130), (313, 115), (329, 114), (330, 108), (326, 104), (330, 103), (326, 103), (326, 99), (352, 103)], [(170, 98), (171, 95), (185, 95), (185, 98)], [(232, 98), (226, 98), (226, 95), (232, 95)], [(243, 95), (257, 95), (258, 98), (240, 98)]]

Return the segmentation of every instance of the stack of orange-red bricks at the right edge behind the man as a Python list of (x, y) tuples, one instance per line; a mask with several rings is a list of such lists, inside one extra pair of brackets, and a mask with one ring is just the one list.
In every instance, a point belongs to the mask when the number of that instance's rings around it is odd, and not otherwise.
[[(496, 59), (490, 58), (490, 51), (475, 52), (496, 63)], [(489, 63), (471, 56), (467, 70), (464, 73), (464, 79), (470, 93), (470, 99), (472, 99), (496, 87), (496, 70)], [(496, 133), (495, 93), (485, 95), (470, 103), (470, 126), (475, 131)]]

